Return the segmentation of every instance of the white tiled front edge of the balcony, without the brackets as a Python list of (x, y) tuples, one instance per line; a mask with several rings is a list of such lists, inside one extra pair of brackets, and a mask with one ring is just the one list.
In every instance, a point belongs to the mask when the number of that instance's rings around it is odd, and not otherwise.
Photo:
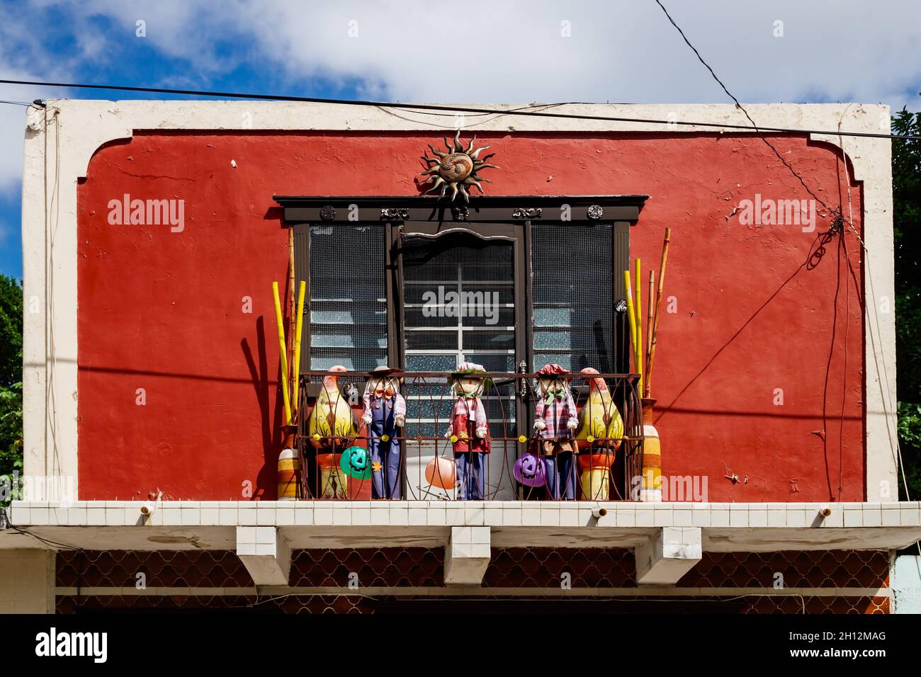
[[(919, 527), (921, 502), (596, 503), (582, 501), (14, 501), (15, 526)], [(598, 519), (593, 509), (607, 514)], [(822, 518), (825, 508), (831, 514)]]

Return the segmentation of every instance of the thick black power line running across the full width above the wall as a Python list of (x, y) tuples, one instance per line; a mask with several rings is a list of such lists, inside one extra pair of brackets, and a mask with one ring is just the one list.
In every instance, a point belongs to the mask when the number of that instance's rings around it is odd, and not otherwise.
[[(449, 112), (470, 112), (484, 115), (515, 115), (521, 117), (537, 118), (560, 118), (565, 120), (598, 120), (612, 123), (648, 123), (664, 124), (670, 127), (675, 125), (688, 127), (711, 127), (715, 129), (739, 129), (751, 132), (752, 127), (746, 124), (730, 123), (701, 123), (686, 122), (681, 120), (658, 120), (654, 118), (631, 118), (619, 117), (612, 115), (584, 115), (578, 113), (562, 112), (542, 112), (542, 111), (521, 111), (519, 109), (509, 111), (496, 111), (488, 108), (475, 108), (470, 106), (451, 106), (448, 104), (435, 103), (393, 103), (391, 101), (367, 101), (361, 99), (321, 99), (318, 97), (294, 97), (284, 94), (246, 94), (240, 92), (214, 92), (203, 91), (199, 89), (167, 89), (152, 87), (125, 87), (121, 85), (87, 85), (75, 82), (41, 82), (35, 80), (0, 80), (0, 84), (6, 85), (26, 85), (34, 87), (63, 87), (72, 89), (107, 89), (111, 91), (127, 92), (146, 92), (152, 94), (181, 94), (195, 97), (223, 97), (225, 99), (262, 99), (268, 101), (297, 101), (301, 103), (327, 103), (341, 106), (376, 106), (378, 108), (399, 109), (402, 111), (449, 111)], [(537, 105), (537, 104), (535, 104)], [(562, 106), (562, 105), (593, 105), (585, 101), (568, 101), (566, 103), (540, 104), (542, 106)], [(785, 132), (792, 134), (830, 134), (837, 135), (838, 132), (821, 130), (821, 129), (792, 129), (790, 127), (760, 127), (763, 132)], [(842, 132), (845, 136), (863, 136), (868, 138), (881, 139), (905, 139), (921, 141), (921, 135), (911, 134), (876, 134), (873, 132)]]

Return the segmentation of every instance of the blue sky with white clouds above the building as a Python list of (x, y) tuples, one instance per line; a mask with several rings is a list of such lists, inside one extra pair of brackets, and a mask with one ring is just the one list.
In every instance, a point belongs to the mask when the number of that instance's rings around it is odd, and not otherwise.
[[(915, 0), (665, 4), (742, 101), (919, 109)], [(652, 0), (0, 0), (0, 77), (400, 101), (727, 100)], [(155, 96), (0, 85), (16, 101)], [(24, 116), (0, 104), (0, 273), (17, 277)]]

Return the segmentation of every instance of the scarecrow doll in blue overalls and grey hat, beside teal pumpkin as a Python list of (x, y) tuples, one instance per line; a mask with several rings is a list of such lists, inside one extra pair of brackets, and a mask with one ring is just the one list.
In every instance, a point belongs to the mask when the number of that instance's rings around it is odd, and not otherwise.
[(400, 394), (400, 369), (378, 367), (371, 371), (362, 402), (361, 416), (367, 427), (367, 450), (371, 461), (371, 497), (401, 498), (400, 440), (398, 427), (406, 423), (406, 401)]

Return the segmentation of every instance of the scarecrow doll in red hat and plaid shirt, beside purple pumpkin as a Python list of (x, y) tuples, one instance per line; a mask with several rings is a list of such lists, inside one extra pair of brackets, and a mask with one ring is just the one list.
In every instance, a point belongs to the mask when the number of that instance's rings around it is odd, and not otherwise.
[(541, 440), (547, 492), (554, 499), (576, 497), (576, 403), (569, 390), (569, 370), (546, 365), (537, 372), (538, 401), (534, 430)]

